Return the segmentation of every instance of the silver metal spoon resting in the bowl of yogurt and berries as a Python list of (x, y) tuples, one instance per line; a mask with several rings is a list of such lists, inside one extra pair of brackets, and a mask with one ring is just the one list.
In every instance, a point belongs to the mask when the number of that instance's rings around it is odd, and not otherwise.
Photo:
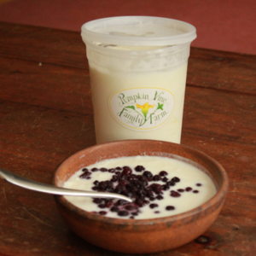
[(100, 197), (100, 198), (113, 198), (113, 199), (122, 199), (125, 201), (132, 201), (131, 198), (126, 197), (125, 195), (119, 195), (108, 192), (93, 192), (93, 191), (84, 191), (84, 190), (75, 190), (75, 189), (64, 189), (55, 187), (53, 185), (38, 183), (21, 177), (13, 172), (8, 172), (3, 169), (0, 169), (0, 178), (5, 179), (9, 183), (13, 183), (17, 186), (20, 186), (24, 189), (32, 189), (38, 192), (44, 192), (53, 195), (77, 195), (77, 196), (89, 196), (89, 197)]

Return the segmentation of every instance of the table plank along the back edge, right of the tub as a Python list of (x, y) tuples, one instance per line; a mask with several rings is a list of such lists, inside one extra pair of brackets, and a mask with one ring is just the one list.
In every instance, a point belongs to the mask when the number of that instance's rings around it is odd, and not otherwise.
[(211, 49), (191, 49), (189, 86), (256, 94), (256, 56)]

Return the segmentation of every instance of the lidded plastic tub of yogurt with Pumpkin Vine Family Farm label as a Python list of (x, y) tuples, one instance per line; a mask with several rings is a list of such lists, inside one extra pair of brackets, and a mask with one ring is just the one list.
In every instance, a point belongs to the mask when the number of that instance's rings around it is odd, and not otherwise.
[(90, 67), (96, 143), (180, 143), (189, 47), (195, 27), (124, 16), (82, 26)]

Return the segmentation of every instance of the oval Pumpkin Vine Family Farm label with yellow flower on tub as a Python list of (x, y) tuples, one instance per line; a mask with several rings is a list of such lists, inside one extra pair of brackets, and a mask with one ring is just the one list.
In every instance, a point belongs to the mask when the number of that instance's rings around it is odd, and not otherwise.
[(175, 104), (172, 92), (160, 88), (119, 90), (109, 98), (108, 106), (119, 124), (136, 131), (148, 131), (163, 125)]

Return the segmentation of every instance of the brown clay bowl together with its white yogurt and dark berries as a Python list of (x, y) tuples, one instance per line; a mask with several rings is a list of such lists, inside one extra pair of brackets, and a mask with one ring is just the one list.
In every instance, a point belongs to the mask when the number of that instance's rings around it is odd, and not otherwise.
[[(186, 168), (179, 165), (195, 170), (183, 173)], [(193, 241), (216, 220), (228, 191), (227, 174), (216, 160), (194, 148), (154, 140), (85, 148), (61, 163), (53, 183), (95, 191), (119, 189), (131, 196), (133, 205), (121, 201), (117, 206), (117, 201), (71, 201), (55, 195), (61, 217), (74, 233), (119, 253), (159, 253)]]

